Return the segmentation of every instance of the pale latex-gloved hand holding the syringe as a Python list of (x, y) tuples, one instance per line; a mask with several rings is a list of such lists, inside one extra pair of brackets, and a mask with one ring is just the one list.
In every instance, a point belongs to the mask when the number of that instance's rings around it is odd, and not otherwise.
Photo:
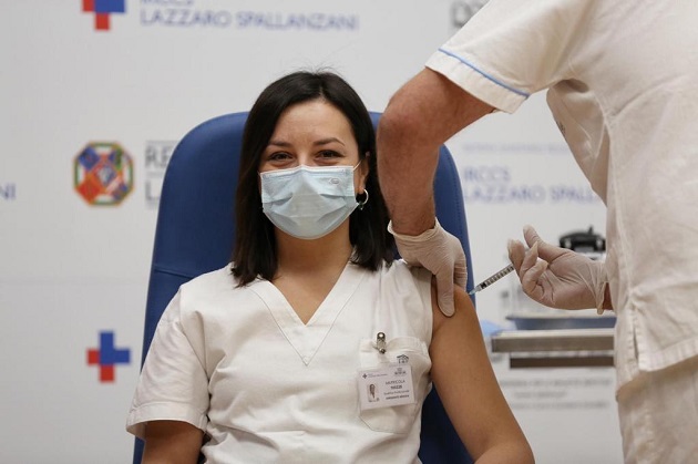
[(510, 240), (507, 247), (524, 293), (551, 308), (603, 312), (608, 280), (604, 262), (547, 244), (531, 226), (524, 227), (524, 238), (528, 250), (516, 240)]

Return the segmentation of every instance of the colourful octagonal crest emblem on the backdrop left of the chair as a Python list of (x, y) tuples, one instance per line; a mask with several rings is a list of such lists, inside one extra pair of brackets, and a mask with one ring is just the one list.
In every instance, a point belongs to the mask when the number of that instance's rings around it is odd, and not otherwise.
[(117, 143), (89, 143), (73, 164), (75, 190), (90, 205), (117, 205), (133, 189), (133, 163)]

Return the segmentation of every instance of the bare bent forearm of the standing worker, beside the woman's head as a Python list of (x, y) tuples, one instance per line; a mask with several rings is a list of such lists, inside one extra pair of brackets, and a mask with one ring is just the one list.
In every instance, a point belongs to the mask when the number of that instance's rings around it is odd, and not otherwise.
[(378, 176), (396, 233), (419, 235), (434, 226), (439, 147), (491, 111), (429, 69), (392, 96), (378, 125), (377, 144)]

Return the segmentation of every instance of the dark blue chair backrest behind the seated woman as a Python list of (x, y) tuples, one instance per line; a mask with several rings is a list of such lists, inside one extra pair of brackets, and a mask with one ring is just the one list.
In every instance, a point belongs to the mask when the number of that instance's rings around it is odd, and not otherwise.
[[(379, 113), (371, 113), (373, 123)], [(242, 135), (247, 113), (208, 120), (178, 143), (165, 173), (155, 229), (153, 261), (145, 309), (143, 355), (157, 321), (182, 283), (224, 267), (235, 236), (234, 196)], [(441, 147), (434, 182), (437, 216), (460, 238), (470, 262), (468, 225), (461, 184), (451, 154)], [(472, 271), (468, 288), (472, 288)], [(141, 463), (143, 443), (136, 439), (134, 464)], [(420, 458), (424, 464), (472, 463), (435, 390), (424, 402)]]

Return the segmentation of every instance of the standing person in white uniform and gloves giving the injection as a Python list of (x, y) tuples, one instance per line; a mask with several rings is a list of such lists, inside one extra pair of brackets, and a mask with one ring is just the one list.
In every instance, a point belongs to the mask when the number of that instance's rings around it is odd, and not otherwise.
[(434, 219), (439, 146), (546, 91), (562, 136), (607, 206), (606, 258), (594, 262), (527, 228), (531, 250), (510, 246), (512, 264), (544, 305), (604, 309), (610, 293), (627, 463), (698, 455), (696, 11), (690, 1), (490, 0), (390, 99), (378, 128), (398, 248), (404, 256), (407, 243), (408, 261), (434, 272), (448, 296), (464, 269), (458, 239)]

